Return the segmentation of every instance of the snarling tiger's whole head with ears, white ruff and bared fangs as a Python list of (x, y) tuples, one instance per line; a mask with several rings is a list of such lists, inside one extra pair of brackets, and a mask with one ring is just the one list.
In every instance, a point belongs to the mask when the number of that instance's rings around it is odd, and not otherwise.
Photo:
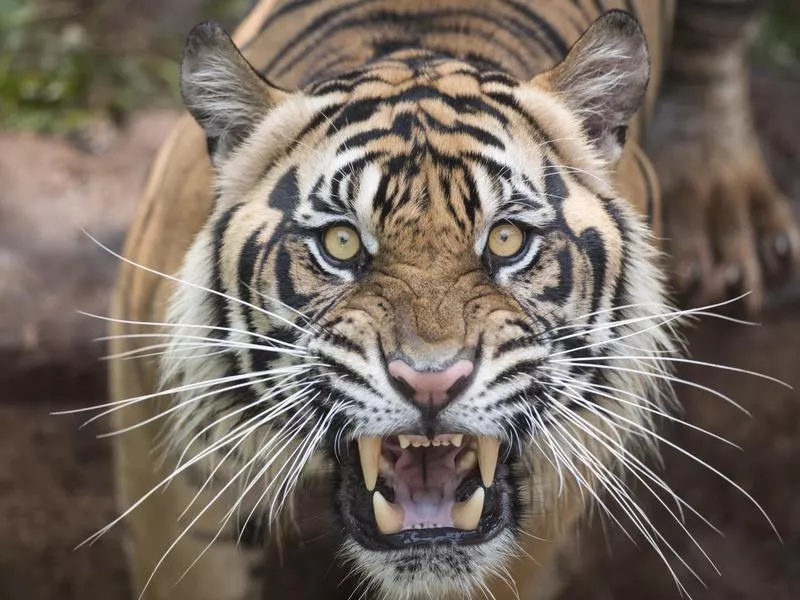
[(182, 76), (216, 202), (169, 320), (220, 350), (164, 359), (174, 446), (222, 456), (271, 520), (332, 472), (344, 554), (387, 594), (480, 586), (661, 398), (661, 280), (608, 183), (638, 25), (609, 13), (528, 82), (405, 51), (292, 93), (201, 25)]

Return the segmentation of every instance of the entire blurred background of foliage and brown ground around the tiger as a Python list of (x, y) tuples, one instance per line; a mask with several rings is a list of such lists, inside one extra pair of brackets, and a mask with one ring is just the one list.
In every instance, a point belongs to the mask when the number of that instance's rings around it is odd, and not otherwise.
[[(79, 416), (50, 416), (105, 398), (103, 344), (93, 341), (104, 327), (76, 311), (106, 314), (117, 265), (81, 228), (121, 247), (153, 154), (180, 114), (178, 58), (185, 34), (209, 18), (233, 27), (249, 4), (0, 0), (2, 600), (128, 597), (118, 531), (73, 550), (114, 515), (109, 442), (96, 437), (104, 425), (80, 429)], [(752, 64), (762, 144), (800, 213), (800, 0), (774, 2)], [(800, 285), (774, 293), (762, 322), (698, 323), (689, 333), (692, 356), (800, 389)], [(665, 448), (667, 481), (723, 533), (687, 518), (717, 575), (657, 503), (642, 495), (704, 584), (677, 560), (672, 566), (695, 599), (797, 600), (798, 392), (707, 368), (683, 369), (681, 376), (730, 395), (751, 416), (685, 388), (685, 418), (741, 450), (685, 428), (665, 427), (665, 435), (751, 493), (782, 541), (731, 485)], [(593, 522), (575, 556), (581, 559), (562, 565), (570, 582), (564, 599), (678, 598), (646, 543), (631, 542), (614, 527)], [(270, 598), (303, 597), (306, 558), (288, 557)]]

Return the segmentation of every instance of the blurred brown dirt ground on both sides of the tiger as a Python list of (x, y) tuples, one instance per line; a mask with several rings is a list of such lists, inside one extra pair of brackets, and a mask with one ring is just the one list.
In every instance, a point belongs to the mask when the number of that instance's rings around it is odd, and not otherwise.
[[(800, 212), (800, 75), (760, 74), (754, 98), (769, 159)], [(2, 600), (127, 597), (119, 531), (95, 546), (73, 550), (114, 515), (109, 444), (95, 438), (103, 428), (79, 429), (80, 417), (49, 413), (105, 397), (105, 374), (98, 362), (102, 345), (88, 341), (100, 335), (102, 325), (74, 309), (103, 312), (114, 261), (85, 239), (76, 243), (75, 229), (85, 226), (119, 247), (147, 164), (173, 118), (164, 113), (134, 119), (97, 156), (30, 135), (0, 136), (0, 291), (13, 285), (24, 292), (0, 306)], [(47, 168), (32, 170), (31, 164)], [(30, 198), (30, 204), (17, 201), (12, 210), (12, 197)], [(65, 204), (70, 201), (89, 207), (80, 213), (85, 220), (69, 218), (75, 212)], [(59, 243), (46, 246), (45, 240)], [(25, 251), (12, 254), (12, 242)], [(47, 268), (33, 269), (42, 265)], [(763, 372), (800, 389), (800, 285), (772, 296), (761, 326), (702, 323), (689, 337), (692, 355), (699, 360)], [(718, 398), (684, 389), (686, 418), (742, 449), (676, 427), (665, 427), (665, 436), (756, 497), (782, 541), (730, 484), (665, 449), (667, 481), (724, 533), (687, 520), (719, 568), (721, 575), (716, 575), (680, 528), (643, 495), (666, 538), (707, 587), (693, 581), (677, 560), (672, 566), (696, 600), (800, 598), (797, 392), (706, 368), (682, 369), (681, 374), (729, 394), (751, 416)], [(565, 600), (679, 597), (646, 544), (638, 540), (634, 545), (613, 527), (607, 529), (604, 535), (602, 524), (594, 523), (582, 532), (577, 554), (584, 559), (564, 566), (570, 581)], [(270, 598), (299, 600), (304, 593), (330, 597), (305, 590), (309, 578), (304, 561), (289, 559), (273, 580)]]

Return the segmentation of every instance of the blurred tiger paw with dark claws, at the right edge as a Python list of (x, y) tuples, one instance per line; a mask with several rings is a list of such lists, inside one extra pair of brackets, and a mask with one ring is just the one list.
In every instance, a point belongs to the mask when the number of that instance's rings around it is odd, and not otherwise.
[(746, 294), (737, 304), (758, 312), (765, 288), (788, 279), (800, 259), (788, 201), (755, 150), (671, 154), (683, 157), (663, 182), (674, 288), (688, 306)]

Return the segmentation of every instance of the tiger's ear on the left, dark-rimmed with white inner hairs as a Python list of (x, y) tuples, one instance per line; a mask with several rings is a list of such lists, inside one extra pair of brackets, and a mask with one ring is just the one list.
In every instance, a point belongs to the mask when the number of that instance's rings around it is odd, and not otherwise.
[(217, 162), (239, 145), (287, 96), (269, 84), (216, 23), (200, 23), (186, 40), (181, 60), (181, 96), (206, 132)]

